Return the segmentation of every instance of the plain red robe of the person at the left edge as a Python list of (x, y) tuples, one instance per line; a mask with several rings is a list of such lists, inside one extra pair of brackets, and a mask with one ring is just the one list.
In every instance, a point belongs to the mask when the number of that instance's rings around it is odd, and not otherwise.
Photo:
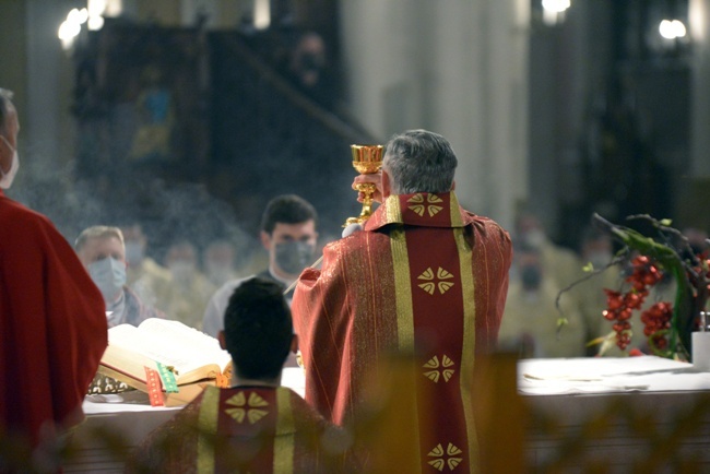
[(107, 344), (104, 298), (42, 214), (0, 191), (0, 437), (81, 422)]

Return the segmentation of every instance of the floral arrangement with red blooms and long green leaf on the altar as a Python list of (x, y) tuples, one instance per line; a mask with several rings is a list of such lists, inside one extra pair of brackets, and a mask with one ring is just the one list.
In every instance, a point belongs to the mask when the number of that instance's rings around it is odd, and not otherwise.
[[(616, 345), (622, 351), (627, 348), (632, 331), (630, 318), (634, 311), (642, 311), (643, 334), (653, 354), (689, 360), (691, 333), (699, 327), (699, 315), (705, 311), (710, 294), (708, 251), (695, 253), (686, 236), (671, 227), (667, 220), (658, 221), (646, 214), (627, 217), (627, 221), (650, 224), (651, 236), (612, 224), (599, 214), (594, 214), (592, 221), (620, 241), (623, 248), (604, 269), (585, 270), (596, 274), (630, 261), (625, 277), (628, 289), (604, 288), (606, 309), (603, 317), (612, 322)], [(666, 274), (676, 283), (674, 300), (656, 301), (643, 309), (649, 291)]]

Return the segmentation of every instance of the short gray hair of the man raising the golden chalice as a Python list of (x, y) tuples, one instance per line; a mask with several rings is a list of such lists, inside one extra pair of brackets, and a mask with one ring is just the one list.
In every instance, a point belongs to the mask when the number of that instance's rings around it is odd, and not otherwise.
[(457, 164), (447, 139), (426, 130), (407, 130), (387, 142), (382, 168), (391, 178), (393, 194), (449, 192)]

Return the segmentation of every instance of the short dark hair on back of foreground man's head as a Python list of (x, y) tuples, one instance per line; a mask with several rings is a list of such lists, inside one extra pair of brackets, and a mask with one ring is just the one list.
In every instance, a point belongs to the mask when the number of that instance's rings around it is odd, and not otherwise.
[(224, 315), (224, 337), (239, 377), (277, 377), (293, 340), (291, 309), (281, 285), (259, 277), (239, 285)]

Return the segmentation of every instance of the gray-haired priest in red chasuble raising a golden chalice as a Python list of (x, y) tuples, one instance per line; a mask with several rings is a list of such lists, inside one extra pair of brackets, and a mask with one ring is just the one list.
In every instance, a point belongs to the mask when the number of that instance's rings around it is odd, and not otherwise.
[[(475, 471), (476, 355), (495, 348), (512, 247), (494, 221), (453, 193), (457, 157), (436, 133), (412, 130), (386, 146), (382, 204), (362, 232), (330, 244), (293, 299), (306, 400), (340, 425), (357, 422), (364, 383), (387, 354), (413, 354), (422, 472)], [(426, 396), (424, 396), (426, 394)]]

